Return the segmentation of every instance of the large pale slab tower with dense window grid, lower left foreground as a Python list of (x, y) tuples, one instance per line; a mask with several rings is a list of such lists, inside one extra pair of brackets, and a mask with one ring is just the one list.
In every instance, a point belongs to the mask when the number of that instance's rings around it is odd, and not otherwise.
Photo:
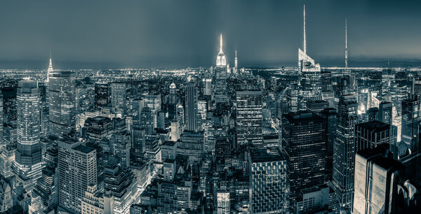
[[(58, 141), (58, 201), (61, 209), (81, 213), (89, 185), (98, 185), (95, 149), (72, 138)], [(60, 210), (59, 208), (59, 210)]]

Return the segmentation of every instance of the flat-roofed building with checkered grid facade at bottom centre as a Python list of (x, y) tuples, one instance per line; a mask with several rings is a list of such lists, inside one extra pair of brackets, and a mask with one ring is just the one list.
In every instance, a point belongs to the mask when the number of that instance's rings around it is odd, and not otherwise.
[(248, 164), (250, 213), (286, 213), (289, 208), (288, 166), (279, 148), (252, 148)]

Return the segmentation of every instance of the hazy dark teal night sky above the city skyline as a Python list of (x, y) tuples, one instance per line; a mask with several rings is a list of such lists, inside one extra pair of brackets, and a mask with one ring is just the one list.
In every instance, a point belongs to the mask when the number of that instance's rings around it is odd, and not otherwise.
[(307, 53), (321, 66), (421, 65), (420, 1), (1, 1), (0, 68), (296, 66), (306, 3)]

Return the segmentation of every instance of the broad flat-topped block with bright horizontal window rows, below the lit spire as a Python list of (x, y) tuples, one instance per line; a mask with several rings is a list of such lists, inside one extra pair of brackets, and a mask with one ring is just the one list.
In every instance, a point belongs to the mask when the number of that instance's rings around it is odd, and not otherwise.
[(236, 92), (237, 145), (262, 145), (262, 92)]

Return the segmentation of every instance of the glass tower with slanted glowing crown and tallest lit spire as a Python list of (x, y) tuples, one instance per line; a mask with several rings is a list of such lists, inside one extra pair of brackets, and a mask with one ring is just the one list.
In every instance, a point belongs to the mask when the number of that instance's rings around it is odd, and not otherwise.
[(298, 71), (300, 78), (298, 80), (298, 110), (306, 110), (306, 102), (310, 100), (321, 99), (321, 68), (314, 59), (307, 55), (307, 41), (305, 32), (305, 6), (304, 6), (304, 40), (301, 48), (298, 48)]

